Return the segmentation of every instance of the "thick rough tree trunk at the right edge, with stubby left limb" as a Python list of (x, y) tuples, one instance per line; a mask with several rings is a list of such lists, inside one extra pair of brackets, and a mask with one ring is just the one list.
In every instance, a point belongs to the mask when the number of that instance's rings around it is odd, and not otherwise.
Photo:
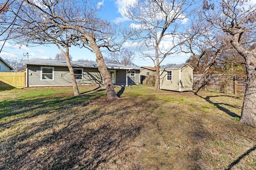
[(239, 44), (241, 33), (233, 35), (231, 44), (242, 55), (246, 62), (247, 85), (244, 94), (240, 121), (252, 127), (256, 126), (256, 47), (248, 49)]

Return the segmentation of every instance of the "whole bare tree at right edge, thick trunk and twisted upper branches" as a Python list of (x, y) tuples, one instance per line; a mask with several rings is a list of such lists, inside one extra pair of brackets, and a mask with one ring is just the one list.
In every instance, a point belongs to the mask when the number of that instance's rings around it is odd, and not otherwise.
[(219, 0), (212, 3), (204, 0), (202, 14), (214, 27), (228, 35), (230, 44), (244, 57), (247, 86), (240, 121), (256, 126), (256, 4), (250, 6), (246, 5), (247, 2)]

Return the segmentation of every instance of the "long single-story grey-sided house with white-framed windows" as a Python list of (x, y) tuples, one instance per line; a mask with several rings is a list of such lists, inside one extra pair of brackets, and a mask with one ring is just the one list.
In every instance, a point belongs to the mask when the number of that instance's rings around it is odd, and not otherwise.
[[(102, 85), (98, 63), (70, 61), (78, 85)], [(26, 66), (26, 87), (71, 86), (66, 61), (30, 59), (20, 64)], [(133, 85), (140, 83), (140, 68), (130, 65), (106, 64), (114, 84)]]

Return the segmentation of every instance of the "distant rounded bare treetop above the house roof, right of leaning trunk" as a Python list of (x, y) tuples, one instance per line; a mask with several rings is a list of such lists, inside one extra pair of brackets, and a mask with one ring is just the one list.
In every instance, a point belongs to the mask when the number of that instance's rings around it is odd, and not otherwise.
[(108, 53), (108, 57), (104, 57), (106, 63), (113, 64), (125, 64), (132, 65), (134, 60), (135, 53), (129, 49), (121, 49), (120, 51), (113, 51)]

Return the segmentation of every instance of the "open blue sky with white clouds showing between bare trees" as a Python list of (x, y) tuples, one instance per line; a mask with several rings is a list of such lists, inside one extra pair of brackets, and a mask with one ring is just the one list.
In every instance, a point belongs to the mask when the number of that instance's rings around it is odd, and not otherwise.
[[(125, 21), (126, 18), (122, 16), (120, 13), (124, 7), (126, 2), (132, 2), (134, 0), (99, 0), (98, 2), (102, 6), (102, 11), (100, 15), (102, 19), (106, 19), (108, 21)], [(256, 3), (256, 0), (252, 0), (252, 3)], [(0, 46), (2, 46), (0, 41)], [(132, 46), (124, 46), (130, 50), (136, 50), (136, 48)], [(37, 47), (26, 47), (25, 45), (11, 45), (10, 43), (6, 43), (2, 52), (0, 53), (0, 57), (22, 57), (27, 59), (27, 56), (23, 54), (28, 53), (29, 59), (37, 58), (37, 59), (54, 59), (57, 53), (61, 53), (60, 50), (57, 48), (56, 45), (51, 45), (50, 47), (45, 47), (43, 45)], [(70, 55), (73, 57), (73, 61), (78, 59), (88, 59), (95, 61), (96, 56), (94, 53), (91, 53), (87, 49), (80, 49), (78, 47), (71, 47), (70, 48)], [(103, 53), (104, 56), (106, 54)], [(189, 55), (180, 54), (179, 56), (170, 56), (167, 57), (161, 64), (172, 63), (172, 64), (181, 64), (185, 63), (188, 59)], [(134, 59), (134, 63), (139, 66), (154, 66), (154, 63), (151, 59), (142, 59), (136, 57)]]

